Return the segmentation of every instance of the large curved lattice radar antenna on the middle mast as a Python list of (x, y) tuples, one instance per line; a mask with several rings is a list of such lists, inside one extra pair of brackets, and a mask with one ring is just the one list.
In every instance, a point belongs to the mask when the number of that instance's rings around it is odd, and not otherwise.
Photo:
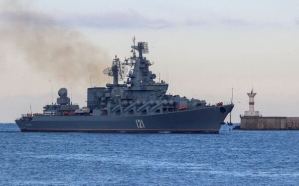
[(120, 59), (115, 56), (115, 59), (112, 62), (112, 66), (105, 68), (103, 71), (104, 74), (113, 76), (113, 84), (117, 85), (118, 81), (125, 79), (126, 74), (128, 73), (127, 66), (122, 65)]

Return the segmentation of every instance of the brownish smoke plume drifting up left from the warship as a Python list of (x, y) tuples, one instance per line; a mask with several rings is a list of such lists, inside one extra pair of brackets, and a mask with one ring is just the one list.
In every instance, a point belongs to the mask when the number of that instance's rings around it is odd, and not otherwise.
[(21, 54), (35, 73), (68, 83), (86, 83), (89, 74), (100, 80), (110, 61), (101, 48), (79, 32), (18, 0), (7, 0), (1, 5), (0, 42), (14, 46), (13, 53)]

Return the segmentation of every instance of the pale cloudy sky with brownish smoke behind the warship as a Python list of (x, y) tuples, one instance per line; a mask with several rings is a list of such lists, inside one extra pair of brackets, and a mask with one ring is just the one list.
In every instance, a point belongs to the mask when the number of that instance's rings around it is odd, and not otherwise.
[[(149, 43), (169, 93), (228, 102), (233, 122), (252, 87), (264, 116), (299, 116), (298, 0), (0, 0), (0, 122), (42, 112), (60, 87), (86, 104), (86, 88), (112, 81), (110, 60)], [(57, 45), (56, 45), (57, 44)], [(54, 56), (54, 57), (53, 57)]]

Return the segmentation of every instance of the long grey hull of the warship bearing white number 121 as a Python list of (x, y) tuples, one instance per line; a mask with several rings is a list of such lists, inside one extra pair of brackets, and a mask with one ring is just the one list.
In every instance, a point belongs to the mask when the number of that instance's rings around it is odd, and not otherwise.
[(233, 107), (209, 106), (145, 116), (35, 116), (15, 122), (21, 131), (218, 133)]

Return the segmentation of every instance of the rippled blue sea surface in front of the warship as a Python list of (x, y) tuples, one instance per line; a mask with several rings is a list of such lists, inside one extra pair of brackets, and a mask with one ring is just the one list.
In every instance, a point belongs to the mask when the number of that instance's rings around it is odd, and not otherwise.
[(19, 132), (0, 124), (0, 185), (299, 185), (299, 131)]

